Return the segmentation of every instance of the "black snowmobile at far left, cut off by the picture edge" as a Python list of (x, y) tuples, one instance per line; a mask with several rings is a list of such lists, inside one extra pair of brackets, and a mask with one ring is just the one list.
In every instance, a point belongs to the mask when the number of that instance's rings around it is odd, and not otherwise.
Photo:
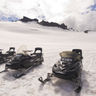
[(8, 62), (15, 54), (16, 52), (14, 47), (10, 47), (4, 54), (2, 53), (2, 49), (0, 49), (0, 64)]

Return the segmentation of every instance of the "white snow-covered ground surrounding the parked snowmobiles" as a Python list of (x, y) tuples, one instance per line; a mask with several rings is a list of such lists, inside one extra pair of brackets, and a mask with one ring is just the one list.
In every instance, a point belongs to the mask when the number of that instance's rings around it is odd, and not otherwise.
[[(71, 82), (53, 78), (44, 86), (38, 81), (46, 77), (64, 50), (83, 50), (83, 88), (80, 96), (96, 96), (96, 32), (71, 32), (59, 28), (44, 27), (35, 23), (0, 22), (0, 48), (23, 45), (34, 50), (42, 47), (44, 63), (20, 79), (12, 71), (0, 74), (0, 96), (77, 96)], [(4, 51), (5, 51), (4, 50)], [(0, 65), (0, 70), (4, 64)]]

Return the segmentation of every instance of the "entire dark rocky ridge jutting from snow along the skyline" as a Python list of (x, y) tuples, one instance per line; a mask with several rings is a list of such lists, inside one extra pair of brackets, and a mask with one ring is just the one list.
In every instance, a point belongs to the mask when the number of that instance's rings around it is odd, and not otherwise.
[(62, 28), (62, 29), (67, 29), (67, 26), (64, 23), (58, 24), (58, 23), (55, 23), (55, 22), (47, 22), (47, 21), (44, 21), (44, 20), (39, 22), (38, 19), (30, 19), (30, 18), (25, 17), (25, 16), (23, 17), (23, 19), (20, 19), (20, 21), (25, 22), (25, 23), (35, 21), (38, 24), (43, 25), (43, 26), (59, 27), (59, 28)]

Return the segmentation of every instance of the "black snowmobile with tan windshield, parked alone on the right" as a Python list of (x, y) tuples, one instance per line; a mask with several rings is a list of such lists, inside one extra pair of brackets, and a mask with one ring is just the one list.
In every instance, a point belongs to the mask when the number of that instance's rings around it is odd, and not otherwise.
[(75, 91), (79, 93), (82, 87), (82, 50), (73, 49), (72, 51), (63, 51), (60, 53), (60, 57), (60, 60), (53, 65), (52, 73), (48, 73), (45, 80), (42, 77), (38, 80), (43, 84), (50, 81), (52, 79), (51, 77), (54, 76), (69, 80), (75, 84)]

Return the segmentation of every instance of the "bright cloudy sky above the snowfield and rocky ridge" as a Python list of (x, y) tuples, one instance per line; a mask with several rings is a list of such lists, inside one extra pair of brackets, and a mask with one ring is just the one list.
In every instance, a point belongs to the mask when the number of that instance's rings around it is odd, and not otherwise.
[(0, 14), (65, 23), (78, 30), (95, 30), (95, 4), (96, 0), (0, 0)]

